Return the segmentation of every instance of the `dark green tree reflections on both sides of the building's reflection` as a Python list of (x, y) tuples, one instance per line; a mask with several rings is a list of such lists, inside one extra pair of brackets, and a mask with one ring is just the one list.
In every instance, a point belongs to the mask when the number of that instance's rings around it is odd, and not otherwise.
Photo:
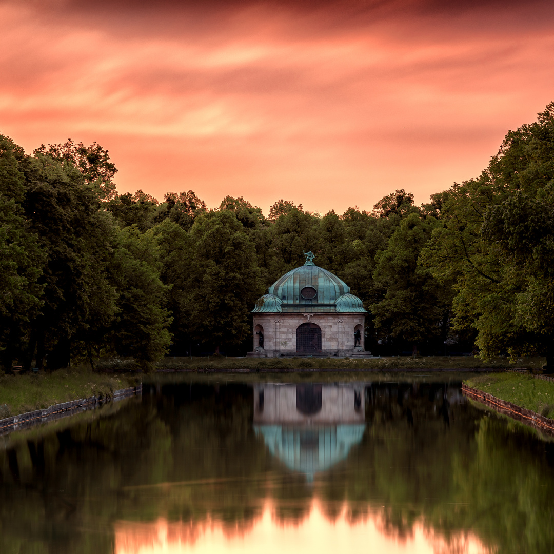
[(346, 501), (349, 519), (378, 511), (383, 532), (398, 537), (423, 521), (450, 552), (471, 530), (499, 551), (550, 552), (551, 444), (482, 417), (452, 390), (366, 388), (361, 444), (311, 485), (255, 437), (252, 389), (146, 393), (141, 409), (130, 403), (0, 451), (0, 551), (111, 552), (116, 520), (219, 520), (244, 531), (268, 497), (282, 522), (302, 520), (319, 497), (329, 519)]

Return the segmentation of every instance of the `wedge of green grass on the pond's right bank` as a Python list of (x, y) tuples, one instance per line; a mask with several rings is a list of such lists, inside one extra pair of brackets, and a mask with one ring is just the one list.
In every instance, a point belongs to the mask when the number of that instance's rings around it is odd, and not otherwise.
[(472, 377), (464, 383), (542, 416), (554, 418), (554, 381), (505, 372)]

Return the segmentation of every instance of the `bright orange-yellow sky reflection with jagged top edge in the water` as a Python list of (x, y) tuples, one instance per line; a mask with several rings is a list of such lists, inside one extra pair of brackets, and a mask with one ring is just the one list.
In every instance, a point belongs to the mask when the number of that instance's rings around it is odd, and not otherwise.
[(437, 554), (480, 554), (489, 552), (477, 537), (471, 534), (454, 534), (448, 542), (416, 524), (410, 536), (398, 538), (383, 532), (380, 514), (352, 522), (343, 510), (330, 521), (321, 507), (314, 502), (309, 516), (299, 524), (285, 524), (274, 519), (271, 506), (266, 504), (263, 515), (251, 530), (229, 530), (219, 522), (198, 524), (191, 532), (191, 524), (157, 522), (119, 522), (115, 528), (115, 554), (174, 554), (194, 552), (216, 554), (287, 554), (293, 552), (386, 552)]

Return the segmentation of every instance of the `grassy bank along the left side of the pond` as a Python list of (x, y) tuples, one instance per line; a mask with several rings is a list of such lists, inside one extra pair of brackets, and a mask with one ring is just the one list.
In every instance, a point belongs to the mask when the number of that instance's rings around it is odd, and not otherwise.
[(134, 386), (135, 381), (136, 377), (131, 375), (96, 373), (86, 367), (37, 375), (0, 373), (0, 419), (78, 398), (106, 396)]

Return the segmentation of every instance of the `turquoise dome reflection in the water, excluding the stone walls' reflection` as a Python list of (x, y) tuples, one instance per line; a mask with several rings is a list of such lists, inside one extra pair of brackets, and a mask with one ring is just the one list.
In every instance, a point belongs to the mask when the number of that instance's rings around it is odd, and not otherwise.
[(289, 425), (255, 425), (256, 435), (264, 438), (271, 454), (290, 470), (313, 478), (317, 471), (326, 471), (346, 458), (359, 444), (366, 425), (324, 425), (292, 427)]

